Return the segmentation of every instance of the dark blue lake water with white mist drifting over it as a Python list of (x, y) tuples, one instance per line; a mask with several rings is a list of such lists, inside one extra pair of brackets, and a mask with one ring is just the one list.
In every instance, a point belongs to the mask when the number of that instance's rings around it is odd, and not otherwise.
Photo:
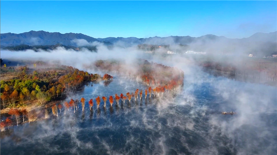
[[(76, 113), (62, 111), (58, 117), (2, 132), (1, 154), (277, 154), (276, 87), (215, 77), (195, 65), (195, 59), (178, 54), (163, 57), (141, 54), (132, 47), (113, 51), (100, 47), (98, 53), (62, 48), (38, 53), (1, 51), (1, 57), (59, 62), (101, 75), (104, 71), (89, 67), (95, 60), (125, 62), (124, 72), (126, 68), (135, 71), (134, 60), (145, 58), (183, 70), (184, 84), (173, 93), (145, 99), (148, 86), (138, 78), (111, 72), (110, 84), (86, 83), (68, 96), (66, 101), (86, 99), (83, 112), (79, 105)], [(125, 104), (120, 100), (118, 105), (114, 101), (112, 108), (108, 101), (103, 108), (101, 100), (100, 108), (96, 107), (97, 96), (125, 95), (136, 89), (143, 90), (142, 100)]]

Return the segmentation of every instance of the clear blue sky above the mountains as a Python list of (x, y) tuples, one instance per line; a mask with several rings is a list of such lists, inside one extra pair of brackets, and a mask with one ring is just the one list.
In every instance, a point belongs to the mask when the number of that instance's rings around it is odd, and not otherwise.
[(249, 37), (277, 29), (277, 1), (3, 1), (1, 33)]

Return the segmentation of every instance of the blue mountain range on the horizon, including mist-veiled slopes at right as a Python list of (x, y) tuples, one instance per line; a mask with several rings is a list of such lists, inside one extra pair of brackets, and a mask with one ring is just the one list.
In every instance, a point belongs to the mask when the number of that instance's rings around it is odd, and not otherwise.
[[(198, 51), (244, 51), (252, 52), (254, 54), (263, 55), (267, 53), (277, 52), (277, 31), (271, 33), (255, 33), (248, 38), (231, 39), (224, 36), (216, 36), (207, 34), (201, 37), (190, 36), (169, 36), (169, 37), (149, 37), (149, 38), (122, 38), (122, 37), (108, 37), (108, 38), (93, 38), (85, 34), (59, 32), (46, 32), (46, 31), (30, 31), (21, 34), (5, 33), (0, 34), (1, 47), (15, 46), (26, 44), (34, 45), (56, 45), (62, 44), (65, 46), (76, 46), (78, 42), (74, 39), (83, 39), (86, 43), (90, 42), (103, 42), (104, 45), (116, 45), (121, 47), (137, 46), (140, 44), (148, 45), (175, 45), (187, 46), (187, 49)], [(176, 49), (176, 47), (175, 47)]]

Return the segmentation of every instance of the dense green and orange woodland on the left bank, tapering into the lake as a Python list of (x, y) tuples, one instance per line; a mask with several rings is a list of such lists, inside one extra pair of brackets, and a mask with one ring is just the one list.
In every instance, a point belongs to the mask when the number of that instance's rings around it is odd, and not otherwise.
[[(89, 74), (71, 66), (34, 70), (28, 73), (26, 66), (17, 68), (16, 78), (1, 80), (2, 109), (25, 107), (26, 101), (44, 102), (59, 100), (69, 91), (76, 90), (86, 81), (101, 79), (98, 74)], [(112, 77), (108, 77), (112, 78)]]

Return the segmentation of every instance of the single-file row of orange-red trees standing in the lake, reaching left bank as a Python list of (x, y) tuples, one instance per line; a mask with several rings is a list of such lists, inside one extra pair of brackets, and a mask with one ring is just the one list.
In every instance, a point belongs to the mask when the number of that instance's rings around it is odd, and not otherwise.
[[(90, 107), (90, 110), (92, 110), (92, 108), (94, 107), (94, 101), (96, 103), (97, 108), (100, 108), (100, 103), (102, 101), (102, 105), (105, 108), (106, 107), (106, 103), (107, 101), (110, 104), (110, 107), (113, 106), (114, 101), (115, 103), (118, 105), (119, 102), (125, 104), (125, 101), (127, 100), (127, 102), (130, 104), (132, 101), (135, 103), (137, 102), (137, 100), (142, 100), (143, 96), (146, 99), (147, 97), (151, 98), (151, 96), (156, 97), (160, 96), (160, 94), (164, 94), (164, 93), (171, 93), (172, 91), (175, 91), (176, 89), (180, 88), (182, 85), (173, 85), (172, 87), (165, 87), (165, 86), (157, 86), (154, 89), (151, 88), (151, 86), (148, 89), (140, 90), (136, 89), (136, 91), (134, 93), (126, 93), (126, 96), (124, 96), (122, 93), (118, 96), (118, 94), (115, 94), (115, 96), (109, 96), (109, 97), (105, 97), (102, 96), (101, 98), (98, 96), (97, 98), (94, 99), (90, 99), (87, 103), (88, 106)], [(82, 111), (85, 110), (85, 105), (86, 105), (86, 99), (84, 97), (81, 98), (81, 100), (73, 100), (71, 99), (70, 101), (65, 101), (62, 104), (54, 104), (51, 109), (52, 109), (52, 114), (54, 116), (58, 117), (58, 113), (62, 113), (62, 110), (64, 111), (64, 114), (66, 115), (66, 111), (69, 112), (69, 110), (73, 110), (74, 113), (80, 109), (79, 105), (82, 106)], [(80, 104), (81, 103), (81, 104)], [(28, 121), (29, 123), (31, 121), (35, 121), (38, 119), (38, 113), (36, 113), (35, 110), (27, 110), (26, 108), (11, 108), (9, 113), (9, 115), (11, 115), (10, 117), (7, 117), (5, 121), (1, 121), (0, 127), (1, 127), (1, 131), (5, 131), (7, 128), (9, 128), (10, 126), (16, 125), (18, 126), (19, 122), (25, 122)], [(44, 113), (44, 117), (48, 118), (49, 117), (49, 111), (48, 109), (45, 109), (45, 113)]]

